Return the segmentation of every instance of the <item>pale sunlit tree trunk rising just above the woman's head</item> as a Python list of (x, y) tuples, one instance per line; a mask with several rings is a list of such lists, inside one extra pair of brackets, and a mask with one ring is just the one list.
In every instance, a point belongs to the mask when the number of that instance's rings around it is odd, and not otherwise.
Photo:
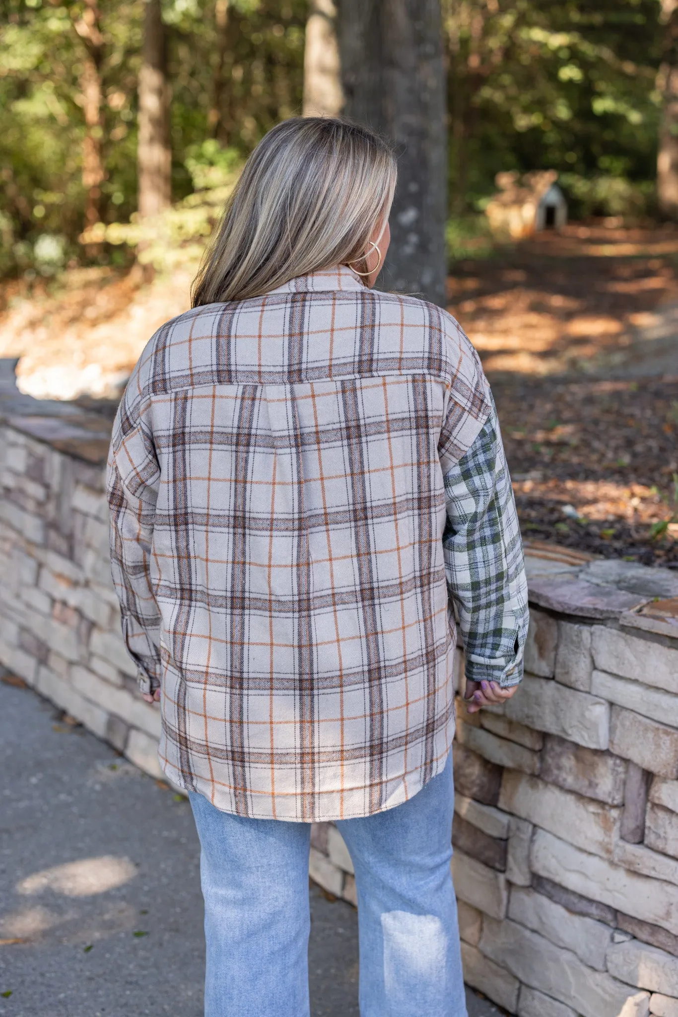
[(311, 0), (304, 49), (304, 116), (336, 117), (343, 106), (336, 7), (333, 0)]

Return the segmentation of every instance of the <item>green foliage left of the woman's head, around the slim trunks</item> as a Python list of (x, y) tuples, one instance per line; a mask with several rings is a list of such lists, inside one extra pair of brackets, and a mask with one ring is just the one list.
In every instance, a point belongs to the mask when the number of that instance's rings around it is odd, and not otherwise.
[[(173, 192), (212, 190), (278, 120), (301, 109), (306, 0), (163, 0), (172, 85)], [(51, 275), (83, 250), (83, 0), (5, 0), (0, 23), (0, 275)], [(104, 226), (136, 210), (142, 0), (98, 0), (103, 36)], [(220, 50), (221, 47), (221, 50)], [(224, 50), (225, 48), (225, 50)], [(223, 57), (220, 57), (220, 52)], [(221, 59), (221, 64), (220, 64)], [(218, 79), (221, 118), (214, 120)], [(226, 149), (224, 153), (223, 149)], [(186, 210), (184, 210), (186, 212)], [(191, 215), (197, 215), (195, 208)], [(41, 237), (52, 238), (46, 241)], [(40, 246), (42, 244), (42, 246)], [(39, 246), (37, 246), (39, 245)], [(59, 260), (45, 251), (59, 246)]]

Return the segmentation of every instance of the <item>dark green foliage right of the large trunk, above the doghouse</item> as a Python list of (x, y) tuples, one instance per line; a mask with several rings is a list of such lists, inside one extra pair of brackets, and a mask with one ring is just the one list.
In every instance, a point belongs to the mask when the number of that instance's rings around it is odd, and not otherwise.
[[(443, 10), (453, 207), (513, 169), (570, 174), (582, 211), (635, 207), (628, 187), (606, 181), (655, 179), (658, 0), (443, 0)], [(589, 195), (573, 175), (592, 181)]]

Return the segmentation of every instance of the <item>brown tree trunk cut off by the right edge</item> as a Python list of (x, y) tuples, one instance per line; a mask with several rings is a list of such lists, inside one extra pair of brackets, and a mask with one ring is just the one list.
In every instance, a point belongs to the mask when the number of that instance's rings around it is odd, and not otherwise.
[(678, 4), (662, 0), (666, 22), (664, 54), (659, 72), (663, 97), (657, 157), (657, 196), (660, 211), (678, 219)]

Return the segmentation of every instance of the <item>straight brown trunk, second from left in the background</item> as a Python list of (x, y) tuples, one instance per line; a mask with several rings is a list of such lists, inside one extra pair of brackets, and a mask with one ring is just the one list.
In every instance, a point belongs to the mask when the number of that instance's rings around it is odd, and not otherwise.
[(139, 215), (157, 216), (172, 200), (170, 88), (160, 0), (145, 0), (137, 163)]

